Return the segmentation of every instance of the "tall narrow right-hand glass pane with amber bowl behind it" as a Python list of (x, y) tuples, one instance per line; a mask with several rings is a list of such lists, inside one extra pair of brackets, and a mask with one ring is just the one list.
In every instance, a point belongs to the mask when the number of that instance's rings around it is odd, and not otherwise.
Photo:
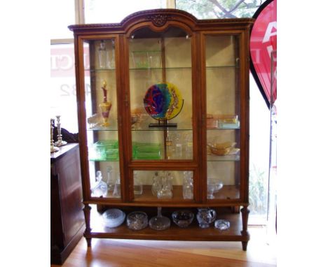
[(207, 199), (240, 197), (238, 36), (206, 36)]

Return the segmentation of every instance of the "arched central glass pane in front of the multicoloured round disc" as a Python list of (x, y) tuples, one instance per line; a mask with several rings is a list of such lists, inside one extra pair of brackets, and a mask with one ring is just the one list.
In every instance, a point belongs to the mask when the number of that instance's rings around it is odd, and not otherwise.
[(132, 158), (193, 159), (191, 38), (139, 29), (129, 51)]

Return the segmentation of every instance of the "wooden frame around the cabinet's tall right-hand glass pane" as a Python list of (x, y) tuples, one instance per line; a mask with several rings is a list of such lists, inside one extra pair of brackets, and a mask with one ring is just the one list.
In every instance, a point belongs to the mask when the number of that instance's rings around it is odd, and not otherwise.
[[(201, 188), (203, 188), (202, 202), (203, 203), (213, 203), (215, 205), (226, 205), (226, 203), (232, 203), (236, 205), (248, 205), (248, 175), (249, 175), (249, 52), (247, 52), (247, 48), (249, 48), (249, 31), (248, 27), (240, 29), (221, 29), (215, 31), (201, 31), (200, 32), (200, 78), (202, 88), (202, 120), (201, 127), (202, 130), (200, 133), (200, 147), (204, 147), (201, 151), (200, 161), (202, 161), (203, 169), (201, 171)], [(206, 127), (206, 116), (207, 116), (207, 96), (206, 96), (206, 55), (205, 55), (205, 38), (206, 36), (239, 36), (239, 85), (240, 85), (240, 186), (239, 192), (240, 196), (238, 199), (217, 199), (217, 200), (208, 200), (207, 199), (207, 127)]]

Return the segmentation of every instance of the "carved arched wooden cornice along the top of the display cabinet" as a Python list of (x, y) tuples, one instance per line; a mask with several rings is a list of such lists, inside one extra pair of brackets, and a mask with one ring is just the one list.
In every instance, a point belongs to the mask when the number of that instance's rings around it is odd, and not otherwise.
[(166, 31), (170, 27), (178, 27), (192, 35), (193, 31), (211, 29), (214, 25), (221, 24), (222, 27), (249, 27), (253, 19), (214, 19), (198, 20), (196, 17), (184, 10), (178, 9), (153, 9), (132, 13), (125, 17), (120, 23), (108, 24), (76, 24), (70, 25), (69, 29), (74, 34), (88, 34), (93, 31), (97, 33), (127, 34), (129, 37), (137, 29), (148, 27), (151, 31)]

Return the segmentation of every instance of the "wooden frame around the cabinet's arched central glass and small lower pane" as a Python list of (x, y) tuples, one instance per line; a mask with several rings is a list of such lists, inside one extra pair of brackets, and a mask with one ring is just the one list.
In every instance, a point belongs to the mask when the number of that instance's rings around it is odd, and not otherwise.
[[(188, 23), (187, 23), (188, 22)], [(197, 44), (199, 43), (199, 33), (193, 31), (191, 27), (194, 27), (194, 24), (191, 24), (190, 21), (184, 22), (177, 22), (177, 21), (170, 21), (168, 20), (165, 24), (160, 27), (157, 27), (153, 24), (152, 21), (148, 22), (139, 22), (136, 24), (132, 24), (131, 27), (126, 29), (127, 33), (124, 36), (123, 40), (123, 50), (125, 52), (124, 69), (122, 69), (122, 73), (125, 73), (123, 77), (123, 84), (124, 84), (124, 94), (125, 99), (128, 99), (125, 103), (125, 122), (129, 122), (131, 120), (130, 117), (130, 70), (129, 70), (129, 39), (134, 34), (135, 31), (142, 28), (149, 28), (151, 31), (154, 32), (164, 32), (169, 27), (177, 27), (184, 31), (186, 34), (191, 36), (191, 101), (192, 101), (192, 127), (193, 127), (193, 159), (161, 159), (161, 160), (132, 160), (132, 132), (130, 131), (130, 124), (126, 124), (124, 127), (125, 130), (125, 162), (128, 163), (128, 175), (127, 180), (129, 182), (129, 195), (128, 201), (133, 202), (134, 194), (133, 194), (133, 171), (155, 171), (155, 170), (167, 170), (167, 171), (193, 171), (194, 172), (194, 203), (200, 203), (200, 145), (199, 145), (199, 136), (200, 136), (200, 101), (198, 97), (201, 96), (199, 91), (199, 66), (198, 66), (198, 59), (200, 57), (199, 50), (197, 49)], [(188, 201), (186, 201), (187, 203)], [(189, 201), (190, 202), (190, 201)], [(156, 204), (156, 201), (153, 202)], [(163, 204), (165, 205), (174, 204), (172, 201), (164, 201)], [(185, 205), (184, 202), (181, 202), (182, 205)], [(142, 203), (140, 202), (140, 205)]]

